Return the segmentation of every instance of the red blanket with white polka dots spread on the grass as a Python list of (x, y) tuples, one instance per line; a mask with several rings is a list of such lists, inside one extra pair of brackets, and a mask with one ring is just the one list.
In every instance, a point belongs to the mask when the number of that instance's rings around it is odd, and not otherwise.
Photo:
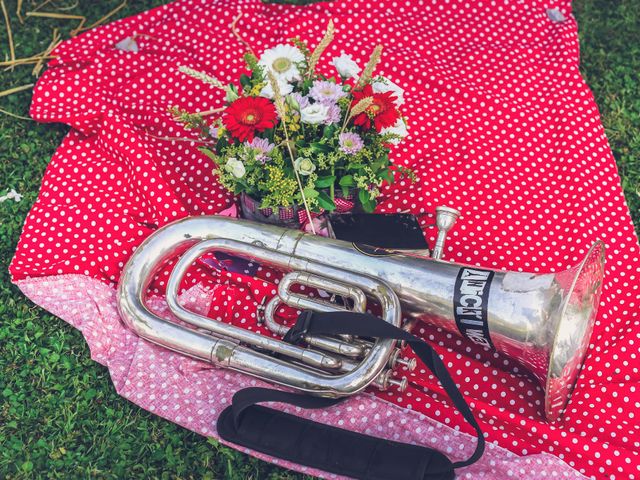
[[(63, 43), (36, 86), (31, 114), (72, 129), (26, 220), (13, 281), (83, 332), (122, 396), (201, 434), (216, 436), (215, 420), (233, 392), (261, 384), (140, 340), (115, 308), (115, 282), (144, 238), (172, 220), (233, 203), (210, 160), (193, 143), (172, 140), (192, 133), (167, 109), (222, 105), (218, 91), (178, 66), (235, 81), (244, 68), (244, 47), (230, 27), (239, 12), (238, 32), (257, 52), (295, 36), (314, 45), (332, 18), (341, 34), (325, 55), (326, 69), (342, 51), (363, 64), (384, 43), (379, 71), (405, 89), (411, 132), (394, 160), (412, 167), (418, 181), (387, 188), (379, 210), (409, 210), (428, 224), (438, 205), (460, 209), (450, 260), (551, 272), (579, 263), (597, 239), (606, 243), (597, 324), (557, 423), (544, 420), (540, 386), (514, 362), (436, 328), (417, 328), (443, 356), (490, 444), (482, 461), (460, 474), (640, 477), (638, 243), (597, 106), (578, 71), (577, 25), (566, 0), (304, 7), (181, 0)], [(433, 229), (425, 234), (433, 245)], [(191, 272), (182, 300), (257, 328), (256, 305), (274, 292), (269, 275), (241, 278), (203, 265)], [(151, 299), (164, 314), (165, 280), (156, 280)], [(418, 367), (410, 380), (402, 394), (369, 391), (325, 411), (297, 413), (465, 458), (471, 431), (435, 378)]]

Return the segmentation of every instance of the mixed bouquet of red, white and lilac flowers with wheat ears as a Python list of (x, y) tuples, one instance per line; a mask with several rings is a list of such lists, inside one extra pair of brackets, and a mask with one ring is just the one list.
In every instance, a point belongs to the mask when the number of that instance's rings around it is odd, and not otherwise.
[[(382, 46), (361, 69), (350, 55), (332, 59), (337, 75), (318, 71), (334, 36), (333, 23), (310, 51), (299, 38), (247, 53), (239, 85), (188, 67), (180, 71), (225, 92), (221, 116), (172, 109), (208, 144), (220, 183), (241, 194), (245, 217), (304, 223), (323, 212), (361, 207), (372, 212), (383, 183), (413, 174), (394, 166), (389, 153), (407, 135), (400, 112), (403, 91), (374, 76)], [(313, 228), (313, 227), (312, 227)]]

